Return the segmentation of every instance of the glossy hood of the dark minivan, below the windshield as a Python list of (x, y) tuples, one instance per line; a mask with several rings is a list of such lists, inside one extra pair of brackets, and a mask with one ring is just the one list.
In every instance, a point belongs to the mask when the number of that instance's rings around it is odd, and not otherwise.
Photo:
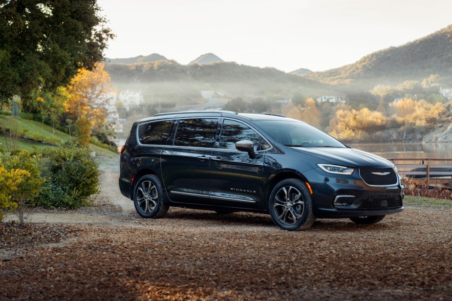
[[(347, 148), (292, 148), (310, 156), (322, 159), (330, 164), (346, 167), (387, 168), (393, 167), (390, 161), (373, 153)], [(323, 163), (323, 162), (316, 162)]]

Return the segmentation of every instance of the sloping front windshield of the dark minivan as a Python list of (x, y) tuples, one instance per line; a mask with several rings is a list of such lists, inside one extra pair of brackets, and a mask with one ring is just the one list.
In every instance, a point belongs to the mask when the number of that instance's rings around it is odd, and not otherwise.
[(291, 147), (334, 147), (346, 146), (320, 129), (296, 120), (255, 120), (272, 138)]

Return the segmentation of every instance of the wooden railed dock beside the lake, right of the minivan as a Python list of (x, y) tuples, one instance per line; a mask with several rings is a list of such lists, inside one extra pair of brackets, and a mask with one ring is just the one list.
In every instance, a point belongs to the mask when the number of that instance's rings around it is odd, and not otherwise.
[(452, 189), (452, 158), (392, 158), (399, 174), (418, 185)]

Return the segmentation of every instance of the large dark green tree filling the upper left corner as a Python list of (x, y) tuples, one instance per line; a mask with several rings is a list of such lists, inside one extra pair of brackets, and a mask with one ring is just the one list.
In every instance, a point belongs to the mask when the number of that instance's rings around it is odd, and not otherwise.
[(66, 86), (92, 70), (114, 35), (97, 0), (0, 0), (0, 101)]

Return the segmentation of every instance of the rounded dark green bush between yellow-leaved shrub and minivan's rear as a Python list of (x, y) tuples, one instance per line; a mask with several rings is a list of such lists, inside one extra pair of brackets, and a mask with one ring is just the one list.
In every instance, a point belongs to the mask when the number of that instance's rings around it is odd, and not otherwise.
[(85, 147), (59, 147), (43, 151), (42, 172), (47, 182), (36, 199), (46, 208), (78, 208), (90, 205), (99, 193), (98, 164)]

